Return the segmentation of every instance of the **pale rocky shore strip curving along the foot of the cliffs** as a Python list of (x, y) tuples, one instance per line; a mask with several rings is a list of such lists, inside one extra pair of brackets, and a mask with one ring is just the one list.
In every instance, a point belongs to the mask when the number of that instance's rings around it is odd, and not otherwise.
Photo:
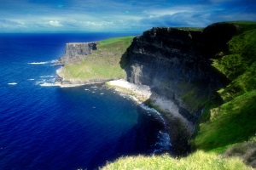
[[(67, 83), (68, 82), (68, 83)], [(60, 88), (73, 88), (90, 84), (105, 83), (108, 87), (114, 88), (119, 94), (126, 94), (131, 97), (138, 105), (145, 104), (153, 108), (154, 110), (160, 112), (161, 115), (165, 114), (167, 121), (172, 122), (172, 119), (177, 118), (183, 122), (184, 127), (188, 130), (190, 134), (193, 132), (193, 125), (191, 122), (187, 121), (178, 112), (178, 106), (170, 99), (166, 99), (163, 96), (154, 94), (149, 86), (147, 85), (137, 85), (131, 82), (127, 82), (124, 79), (117, 80), (102, 80), (102, 81), (90, 81), (90, 82), (71, 82), (67, 81), (65, 83), (55, 82), (53, 84), (44, 86), (59, 86)]]

